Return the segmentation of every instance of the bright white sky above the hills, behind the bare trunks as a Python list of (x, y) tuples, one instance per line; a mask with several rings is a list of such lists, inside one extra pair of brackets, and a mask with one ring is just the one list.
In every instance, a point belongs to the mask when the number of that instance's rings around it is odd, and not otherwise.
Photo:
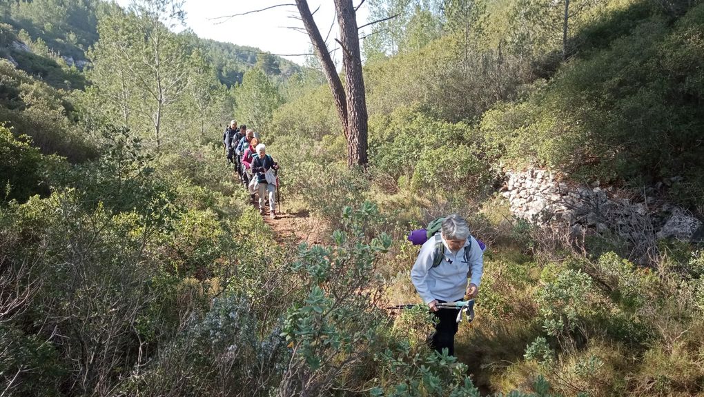
[[(116, 0), (126, 7), (131, 0)], [(355, 6), (360, 0), (353, 0)], [(305, 33), (287, 29), (287, 26), (303, 28), (303, 22), (291, 16), (298, 15), (296, 6), (272, 8), (260, 13), (241, 15), (230, 20), (215, 20), (225, 15), (260, 10), (276, 4), (293, 4), (294, 0), (185, 0), (186, 23), (199, 37), (225, 41), (240, 46), (253, 46), (273, 54), (297, 54), (310, 52), (310, 40)], [(332, 0), (309, 0), (310, 11), (320, 6), (315, 13), (315, 22), (320, 34), (325, 38), (335, 11)], [(364, 25), (369, 14), (366, 4), (357, 12), (357, 24)], [(220, 23), (218, 23), (220, 22)], [(328, 46), (332, 49), (334, 37), (339, 35), (337, 24), (332, 28)], [(302, 64), (303, 56), (286, 56), (289, 60)]]

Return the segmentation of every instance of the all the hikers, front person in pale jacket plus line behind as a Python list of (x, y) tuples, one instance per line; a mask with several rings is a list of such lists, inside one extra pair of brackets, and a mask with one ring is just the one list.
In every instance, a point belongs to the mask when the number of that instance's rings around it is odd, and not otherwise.
[[(265, 214), (265, 194), (268, 193), (270, 216), (276, 219), (279, 166), (266, 154), (266, 146), (259, 139), (245, 124), (237, 128), (235, 120), (222, 134), (227, 161), (234, 165), (240, 181), (249, 189), (252, 202), (258, 192), (259, 212)], [(460, 304), (467, 305), (471, 313), (468, 320), (474, 318), (473, 299), (477, 297), (484, 273), (486, 245), (472, 237), (469, 224), (458, 214), (436, 219), (427, 228), (414, 230), (408, 240), (414, 245), (422, 244), (410, 278), (423, 302), (438, 318), (435, 332), (429, 335), (427, 342), (438, 353), (445, 350), (449, 356), (454, 356), (455, 334), (465, 308)], [(460, 301), (463, 296), (470, 301)], [(398, 308), (403, 306), (415, 305)]]

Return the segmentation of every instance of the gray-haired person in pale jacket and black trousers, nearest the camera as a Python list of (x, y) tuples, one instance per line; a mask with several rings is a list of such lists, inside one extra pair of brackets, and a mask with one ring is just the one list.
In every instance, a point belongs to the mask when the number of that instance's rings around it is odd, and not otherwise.
[[(436, 260), (436, 255), (441, 255), (442, 259)], [(470, 235), (467, 221), (458, 214), (447, 216), (441, 233), (429, 238), (420, 248), (410, 278), (423, 302), (439, 319), (431, 341), (437, 352), (448, 349), (448, 354), (454, 356), (458, 325), (455, 321), (457, 310), (436, 305), (459, 301), (465, 294), (476, 297), (483, 271), (482, 248)]]

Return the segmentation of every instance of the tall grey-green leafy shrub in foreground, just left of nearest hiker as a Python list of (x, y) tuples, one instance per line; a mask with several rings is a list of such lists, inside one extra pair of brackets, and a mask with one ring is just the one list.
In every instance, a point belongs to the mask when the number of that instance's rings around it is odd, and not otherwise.
[[(346, 207), (344, 229), (333, 233), (332, 247), (301, 245), (292, 270), (302, 278), (306, 297), (289, 308), (282, 330), (295, 352), (284, 377), (296, 380), (284, 385), (286, 395), (316, 394), (332, 384), (344, 384), (352, 370), (363, 370), (380, 343), (384, 313), (375, 306), (379, 294), (374, 291), (381, 286), (375, 264), (391, 246), (391, 238), (367, 237), (366, 225), (377, 214), (369, 202), (358, 209)], [(363, 371), (363, 377), (349, 380), (358, 383), (374, 377), (372, 363), (368, 364), (370, 371)], [(301, 377), (321, 382), (300, 382)]]

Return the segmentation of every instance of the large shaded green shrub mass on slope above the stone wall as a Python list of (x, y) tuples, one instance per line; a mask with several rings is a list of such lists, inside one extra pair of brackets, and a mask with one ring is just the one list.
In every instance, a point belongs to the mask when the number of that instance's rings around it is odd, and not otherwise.
[(562, 65), (527, 100), (484, 115), (487, 141), (508, 162), (546, 164), (586, 180), (642, 186), (684, 176), (677, 199), (696, 204), (704, 186), (692, 171), (704, 158), (697, 99), (704, 93), (703, 18), (701, 5), (674, 27), (655, 15), (608, 49)]

